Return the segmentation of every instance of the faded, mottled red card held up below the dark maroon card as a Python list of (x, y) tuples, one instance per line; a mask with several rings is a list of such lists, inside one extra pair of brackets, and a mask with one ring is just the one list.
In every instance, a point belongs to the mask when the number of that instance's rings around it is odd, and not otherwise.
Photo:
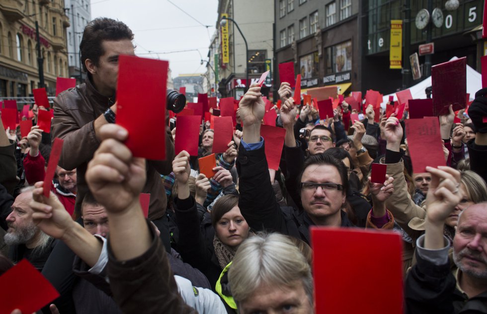
[(446, 165), (438, 118), (407, 119), (406, 138), (414, 173)]

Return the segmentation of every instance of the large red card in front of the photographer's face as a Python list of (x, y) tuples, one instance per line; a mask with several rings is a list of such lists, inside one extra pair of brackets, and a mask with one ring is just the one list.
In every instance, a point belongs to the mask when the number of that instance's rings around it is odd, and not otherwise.
[(122, 55), (118, 64), (116, 123), (129, 132), (125, 145), (134, 157), (163, 160), (165, 124), (161, 120), (166, 117), (169, 63)]

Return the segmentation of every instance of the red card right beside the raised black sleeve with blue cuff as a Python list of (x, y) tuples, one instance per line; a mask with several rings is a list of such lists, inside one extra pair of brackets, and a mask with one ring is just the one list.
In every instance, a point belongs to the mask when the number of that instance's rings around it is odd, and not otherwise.
[(260, 126), (260, 135), (264, 138), (265, 158), (269, 169), (277, 171), (281, 161), (282, 147), (286, 130), (276, 126)]

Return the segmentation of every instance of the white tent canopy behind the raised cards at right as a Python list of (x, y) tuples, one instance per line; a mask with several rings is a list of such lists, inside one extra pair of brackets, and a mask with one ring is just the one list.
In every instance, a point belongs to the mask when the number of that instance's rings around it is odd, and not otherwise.
[[(450, 61), (458, 59), (457, 57), (453, 57)], [(409, 87), (411, 91), (411, 95), (413, 99), (425, 99), (426, 98), (426, 87), (431, 86), (431, 76), (425, 78), (423, 81), (417, 83), (414, 86)], [(474, 70), (467, 64), (467, 93), (470, 94), (470, 99), (473, 100), (475, 97), (475, 93), (482, 88), (482, 75)], [(389, 101), (389, 96), (394, 96), (394, 101), (397, 101), (398, 98), (396, 97), (396, 93), (385, 95), (382, 102), (382, 106), (384, 107), (385, 104)], [(434, 95), (433, 95), (434, 96)]]

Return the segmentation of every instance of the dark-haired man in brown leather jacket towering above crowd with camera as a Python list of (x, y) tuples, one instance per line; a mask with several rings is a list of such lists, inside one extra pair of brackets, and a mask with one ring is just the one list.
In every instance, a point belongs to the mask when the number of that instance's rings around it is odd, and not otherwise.
[[(115, 91), (118, 57), (135, 55), (134, 34), (127, 25), (109, 18), (96, 18), (86, 25), (80, 44), (81, 61), (87, 78), (83, 84), (60, 93), (54, 100), (53, 139), (64, 139), (59, 165), (71, 171), (77, 169), (77, 200), (75, 216), (81, 215), (81, 201), (88, 188), (84, 174), (88, 162), (100, 144), (100, 127), (115, 122)], [(166, 133), (166, 160), (174, 157), (172, 136)], [(160, 174), (171, 172), (166, 161), (149, 161), (144, 193), (151, 194), (149, 219), (161, 230), (166, 250), (169, 235), (163, 216), (167, 200)]]

